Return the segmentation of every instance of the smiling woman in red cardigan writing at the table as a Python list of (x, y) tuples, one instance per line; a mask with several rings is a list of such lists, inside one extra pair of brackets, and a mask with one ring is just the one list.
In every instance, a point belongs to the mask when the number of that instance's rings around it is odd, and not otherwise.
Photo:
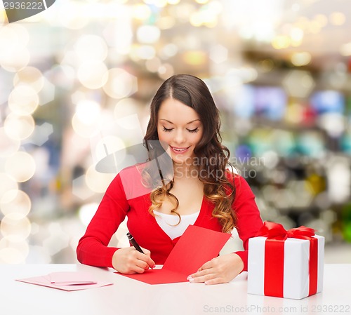
[[(249, 185), (227, 169), (230, 152), (221, 144), (219, 112), (204, 81), (188, 74), (164, 81), (152, 99), (144, 140), (149, 161), (114, 178), (79, 241), (79, 261), (143, 273), (164, 264), (190, 224), (226, 233), (236, 228), (244, 250), (214, 257), (188, 277), (231, 281), (247, 269), (248, 239), (263, 223)], [(164, 161), (172, 170), (161, 167)], [(147, 176), (152, 180), (144, 181)], [(125, 217), (144, 253), (108, 247)]]

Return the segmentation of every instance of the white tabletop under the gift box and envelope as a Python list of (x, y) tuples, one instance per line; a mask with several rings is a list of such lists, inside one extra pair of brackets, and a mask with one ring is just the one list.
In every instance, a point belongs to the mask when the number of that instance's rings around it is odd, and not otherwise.
[[(66, 292), (15, 281), (50, 272), (85, 271), (112, 286)], [(151, 286), (81, 264), (0, 265), (1, 315), (351, 314), (351, 264), (326, 264), (324, 290), (303, 300), (246, 293), (246, 272), (230, 283)], [(328, 309), (329, 307), (329, 309)]]

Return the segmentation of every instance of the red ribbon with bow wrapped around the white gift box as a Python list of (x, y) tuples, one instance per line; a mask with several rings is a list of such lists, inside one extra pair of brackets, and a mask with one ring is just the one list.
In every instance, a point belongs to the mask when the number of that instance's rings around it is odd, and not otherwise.
[[(318, 240), (314, 229), (296, 227), (286, 231), (282, 224), (264, 222), (256, 236), (265, 236), (265, 295), (284, 297), (284, 241), (287, 238), (310, 241), (310, 290), (308, 295), (317, 293)], [(293, 272), (293, 271), (292, 271)]]

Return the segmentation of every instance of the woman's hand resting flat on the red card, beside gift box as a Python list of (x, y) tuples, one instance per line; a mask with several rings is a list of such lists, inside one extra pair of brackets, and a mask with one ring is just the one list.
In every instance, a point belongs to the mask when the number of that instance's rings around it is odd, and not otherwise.
[(205, 284), (226, 283), (234, 279), (244, 269), (244, 262), (235, 253), (225, 254), (204, 263), (197, 272), (190, 274), (190, 282)]

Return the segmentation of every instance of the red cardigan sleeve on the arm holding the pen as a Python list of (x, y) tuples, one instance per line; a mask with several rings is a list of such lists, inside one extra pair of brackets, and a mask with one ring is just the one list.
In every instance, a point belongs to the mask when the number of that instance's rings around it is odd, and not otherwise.
[(86, 233), (79, 240), (77, 246), (79, 262), (96, 267), (112, 267), (112, 256), (119, 248), (108, 247), (108, 244), (126, 217), (128, 208), (121, 177), (117, 175), (102, 197)]

